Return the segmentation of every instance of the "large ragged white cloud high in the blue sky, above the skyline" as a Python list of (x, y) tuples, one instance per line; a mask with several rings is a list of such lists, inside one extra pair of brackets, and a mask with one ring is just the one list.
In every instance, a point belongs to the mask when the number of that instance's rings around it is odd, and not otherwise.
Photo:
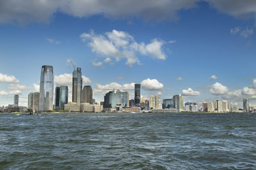
[[(113, 57), (116, 62), (121, 58), (126, 59), (126, 65), (132, 67), (133, 64), (140, 64), (137, 55), (147, 55), (152, 59), (165, 60), (166, 54), (163, 52), (164, 41), (152, 39), (150, 43), (138, 43), (127, 32), (116, 31), (106, 32), (104, 35), (97, 35), (95, 32), (84, 32), (80, 35), (83, 42), (86, 42), (92, 52), (98, 55), (108, 56), (104, 61), (110, 62)], [(93, 66), (101, 66), (102, 62), (93, 62)]]

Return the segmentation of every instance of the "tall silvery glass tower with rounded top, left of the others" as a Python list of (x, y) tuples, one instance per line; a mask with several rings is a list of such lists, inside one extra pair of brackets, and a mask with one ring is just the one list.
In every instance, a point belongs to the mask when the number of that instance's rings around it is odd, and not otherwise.
[(53, 69), (52, 66), (42, 66), (40, 78), (39, 110), (52, 110), (53, 103)]

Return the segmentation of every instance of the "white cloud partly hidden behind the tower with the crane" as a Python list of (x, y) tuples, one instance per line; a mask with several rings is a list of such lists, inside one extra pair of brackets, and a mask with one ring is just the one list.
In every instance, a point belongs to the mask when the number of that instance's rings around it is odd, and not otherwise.
[[(90, 84), (92, 81), (86, 77), (82, 76), (83, 78), (83, 84)], [(72, 74), (60, 74), (58, 76), (54, 76), (54, 82), (56, 85), (72, 85)]]

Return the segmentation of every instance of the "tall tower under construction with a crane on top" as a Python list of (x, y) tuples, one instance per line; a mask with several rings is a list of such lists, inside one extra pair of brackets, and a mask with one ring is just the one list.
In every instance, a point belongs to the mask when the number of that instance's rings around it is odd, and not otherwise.
[(73, 80), (72, 80), (72, 102), (81, 103), (82, 96), (82, 72), (81, 67), (75, 67), (73, 71)]

